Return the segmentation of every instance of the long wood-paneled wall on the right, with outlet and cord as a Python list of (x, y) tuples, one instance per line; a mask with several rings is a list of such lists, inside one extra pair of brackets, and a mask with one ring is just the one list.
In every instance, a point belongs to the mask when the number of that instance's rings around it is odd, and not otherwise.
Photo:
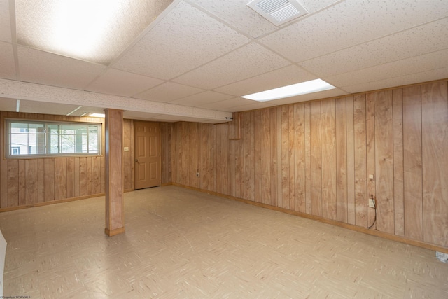
[(172, 180), (364, 228), (373, 197), (374, 228), (448, 247), (447, 94), (439, 81), (236, 113), (237, 140), (235, 123), (175, 123)]

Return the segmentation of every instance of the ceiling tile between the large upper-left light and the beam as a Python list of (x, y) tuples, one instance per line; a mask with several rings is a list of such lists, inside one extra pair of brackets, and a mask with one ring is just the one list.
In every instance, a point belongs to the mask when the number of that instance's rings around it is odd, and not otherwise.
[(20, 80), (83, 89), (97, 77), (104, 66), (91, 64), (52, 53), (18, 47)]

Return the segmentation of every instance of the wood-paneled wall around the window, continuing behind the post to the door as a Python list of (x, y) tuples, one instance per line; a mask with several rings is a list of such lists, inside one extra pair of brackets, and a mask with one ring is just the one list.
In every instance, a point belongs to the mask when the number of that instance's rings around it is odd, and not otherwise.
[[(104, 119), (0, 112), (0, 209), (31, 206), (43, 202), (76, 199), (104, 193), (104, 155), (38, 159), (4, 159), (4, 119), (75, 121), (103, 123)], [(134, 188), (133, 121), (124, 120), (125, 190)], [(126, 167), (126, 165), (128, 167)]]

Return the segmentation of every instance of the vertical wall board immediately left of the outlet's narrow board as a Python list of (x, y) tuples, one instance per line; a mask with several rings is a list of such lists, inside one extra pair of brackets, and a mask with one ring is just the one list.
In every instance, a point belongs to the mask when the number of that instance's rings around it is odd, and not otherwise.
[(353, 101), (353, 129), (355, 145), (355, 224), (367, 227), (367, 145), (365, 132), (365, 95)]

